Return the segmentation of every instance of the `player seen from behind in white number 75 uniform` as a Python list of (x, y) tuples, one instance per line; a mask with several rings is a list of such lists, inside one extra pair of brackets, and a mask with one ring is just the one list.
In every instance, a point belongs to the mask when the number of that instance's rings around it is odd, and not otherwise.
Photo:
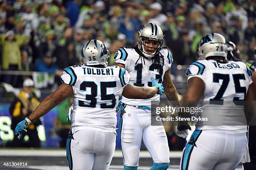
[[(205, 35), (198, 48), (200, 60), (187, 69), (188, 87), (184, 101), (232, 101), (233, 107), (205, 105), (215, 120), (232, 117), (238, 107), (233, 100), (255, 99), (251, 70), (241, 61), (227, 61), (227, 44), (218, 33)], [(210, 107), (211, 109), (205, 108)], [(252, 104), (253, 107), (253, 104)], [(202, 112), (202, 115), (206, 112)], [(222, 117), (222, 119), (218, 119)], [(232, 119), (232, 118), (231, 118)], [(233, 119), (232, 119), (233, 120)], [(240, 124), (233, 120), (233, 125)], [(236, 122), (238, 121), (238, 122)], [(218, 122), (215, 122), (218, 123)], [(177, 134), (186, 137), (177, 130)], [(246, 153), (247, 126), (206, 126), (197, 124), (196, 130), (183, 150), (181, 170), (234, 170)], [(182, 136), (180, 135), (180, 136)]]

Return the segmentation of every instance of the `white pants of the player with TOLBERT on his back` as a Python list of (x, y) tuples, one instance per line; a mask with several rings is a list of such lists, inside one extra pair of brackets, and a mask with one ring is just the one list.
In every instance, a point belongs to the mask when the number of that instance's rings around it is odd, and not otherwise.
[(108, 170), (115, 151), (116, 134), (79, 130), (67, 139), (69, 170)]

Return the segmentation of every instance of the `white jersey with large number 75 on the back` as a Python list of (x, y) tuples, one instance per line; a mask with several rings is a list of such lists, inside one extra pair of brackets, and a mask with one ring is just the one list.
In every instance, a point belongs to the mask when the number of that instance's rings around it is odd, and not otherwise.
[[(235, 101), (243, 101), (246, 98), (248, 86), (252, 83), (251, 75), (251, 70), (241, 61), (223, 63), (215, 60), (198, 60), (192, 63), (186, 71), (186, 76), (188, 79), (197, 76), (205, 83), (205, 91), (200, 98), (204, 101), (204, 111), (202, 114), (197, 114), (197, 117), (207, 115), (205, 117), (215, 120), (218, 124), (218, 126), (206, 126), (204, 123), (199, 123), (196, 129), (247, 132), (246, 126), (235, 126), (244, 125), (241, 122), (246, 121), (244, 113), (241, 114), (243, 106)], [(214, 101), (218, 101), (218, 104), (213, 104)], [(238, 115), (240, 117), (237, 117)], [(222, 126), (222, 124), (233, 126)]]

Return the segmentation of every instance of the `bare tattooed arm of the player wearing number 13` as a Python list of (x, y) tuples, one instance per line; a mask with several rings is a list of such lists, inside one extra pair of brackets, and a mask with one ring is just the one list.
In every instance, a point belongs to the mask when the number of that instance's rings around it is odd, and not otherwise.
[[(174, 84), (172, 83), (171, 79), (171, 69), (168, 69), (164, 73), (164, 81), (163, 81), (163, 86), (164, 86), (164, 93), (169, 101), (179, 101), (178, 94), (176, 91), (176, 88)], [(178, 102), (179, 104), (179, 102)], [(180, 104), (179, 104), (180, 105)], [(178, 106), (179, 107), (179, 106)]]

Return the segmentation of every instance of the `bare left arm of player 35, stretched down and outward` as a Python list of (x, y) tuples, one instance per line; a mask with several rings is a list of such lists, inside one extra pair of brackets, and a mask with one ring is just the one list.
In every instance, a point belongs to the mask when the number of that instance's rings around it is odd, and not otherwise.
[(47, 96), (36, 109), (29, 115), (29, 119), (33, 122), (54, 108), (61, 101), (72, 95), (73, 88), (68, 84), (61, 84), (52, 94)]

